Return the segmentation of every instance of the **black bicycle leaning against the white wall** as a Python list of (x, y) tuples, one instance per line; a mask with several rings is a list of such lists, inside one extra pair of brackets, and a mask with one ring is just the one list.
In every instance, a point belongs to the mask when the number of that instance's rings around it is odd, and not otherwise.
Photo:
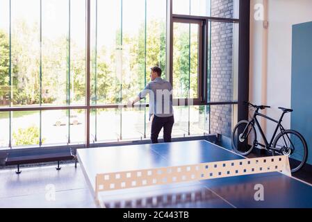
[[(285, 130), (281, 125), (284, 115), (289, 112), (293, 112), (291, 109), (279, 108), (283, 111), (279, 121), (272, 119), (265, 114), (261, 114), (259, 110), (265, 110), (266, 108), (271, 108), (268, 105), (253, 105), (252, 103), (246, 103), (256, 111), (250, 121), (240, 121), (233, 129), (232, 134), (232, 146), (234, 151), (240, 155), (249, 155), (252, 150), (261, 146), (272, 155), (287, 155), (290, 160), (290, 169), (292, 173), (295, 173), (304, 167), (306, 159), (308, 157), (308, 147), (304, 137), (295, 130)], [(260, 123), (256, 117), (263, 117), (274, 123), (277, 123), (277, 128), (274, 130), (270, 143), (265, 137)], [(261, 144), (257, 140), (256, 127), (264, 141), (265, 144)], [(278, 130), (281, 131), (277, 135)]]

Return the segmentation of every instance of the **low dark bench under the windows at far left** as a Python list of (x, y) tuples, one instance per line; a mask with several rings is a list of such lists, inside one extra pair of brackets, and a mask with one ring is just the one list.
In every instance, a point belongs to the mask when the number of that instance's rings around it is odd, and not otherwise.
[(36, 164), (42, 162), (58, 162), (57, 170), (60, 170), (60, 161), (75, 160), (77, 167), (76, 151), (72, 148), (37, 148), (25, 151), (11, 151), (6, 157), (6, 166), (17, 165), (17, 174), (22, 173), (19, 170), (21, 164)]

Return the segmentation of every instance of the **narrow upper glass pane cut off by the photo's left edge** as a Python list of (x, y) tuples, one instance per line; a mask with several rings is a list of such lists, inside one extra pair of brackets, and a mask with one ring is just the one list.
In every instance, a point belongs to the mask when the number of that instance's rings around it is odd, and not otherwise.
[[(10, 5), (0, 1), (0, 106), (10, 105)], [(1, 146), (1, 142), (0, 142)]]

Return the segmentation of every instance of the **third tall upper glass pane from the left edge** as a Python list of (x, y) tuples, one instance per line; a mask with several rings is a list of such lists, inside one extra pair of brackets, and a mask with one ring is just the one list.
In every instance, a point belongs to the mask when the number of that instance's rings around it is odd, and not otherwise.
[(44, 104), (69, 104), (68, 37), (68, 1), (42, 1), (42, 102)]

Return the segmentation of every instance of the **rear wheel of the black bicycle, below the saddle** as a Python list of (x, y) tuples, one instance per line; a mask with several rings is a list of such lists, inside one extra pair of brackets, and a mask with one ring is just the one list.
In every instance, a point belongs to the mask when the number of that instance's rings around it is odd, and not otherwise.
[(302, 135), (294, 130), (286, 130), (274, 139), (272, 155), (287, 155), (292, 173), (304, 167), (308, 157), (308, 146)]

